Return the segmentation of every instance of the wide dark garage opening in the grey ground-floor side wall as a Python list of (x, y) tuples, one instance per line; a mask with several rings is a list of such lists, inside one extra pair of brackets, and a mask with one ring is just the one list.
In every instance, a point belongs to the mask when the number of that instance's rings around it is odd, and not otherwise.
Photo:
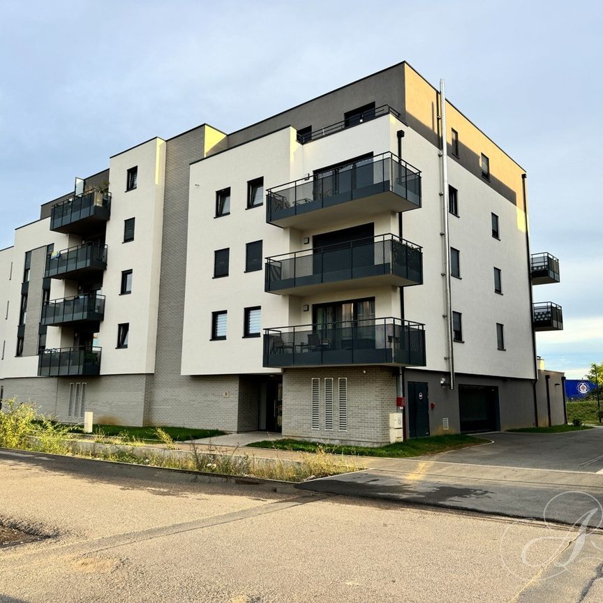
[(499, 431), (498, 387), (459, 385), (461, 431)]

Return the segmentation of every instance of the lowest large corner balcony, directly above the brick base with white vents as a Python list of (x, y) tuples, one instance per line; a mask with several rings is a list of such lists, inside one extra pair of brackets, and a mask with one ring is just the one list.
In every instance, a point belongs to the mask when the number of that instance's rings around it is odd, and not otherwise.
[(399, 318), (371, 318), (265, 329), (264, 366), (355, 364), (425, 366), (424, 325)]

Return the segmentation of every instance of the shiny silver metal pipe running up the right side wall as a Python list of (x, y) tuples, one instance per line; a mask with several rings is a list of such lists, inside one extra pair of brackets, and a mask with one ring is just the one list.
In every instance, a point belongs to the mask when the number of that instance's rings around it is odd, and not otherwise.
[(449, 389), (454, 389), (454, 350), (452, 341), (452, 285), (450, 282), (450, 233), (448, 228), (448, 161), (447, 161), (447, 129), (446, 129), (446, 95), (444, 80), (440, 80), (440, 135), (442, 138), (442, 149), (440, 150), (440, 161), (442, 163), (442, 232), (444, 237), (444, 273), (446, 292), (446, 322), (447, 322), (447, 361), (449, 372)]

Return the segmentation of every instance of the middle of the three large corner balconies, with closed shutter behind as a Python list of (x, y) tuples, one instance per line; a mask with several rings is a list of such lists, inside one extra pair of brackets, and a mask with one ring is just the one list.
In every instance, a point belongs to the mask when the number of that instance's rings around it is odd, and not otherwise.
[(371, 239), (273, 255), (267, 258), (265, 290), (280, 295), (312, 295), (332, 290), (423, 282), (421, 247), (380, 234)]

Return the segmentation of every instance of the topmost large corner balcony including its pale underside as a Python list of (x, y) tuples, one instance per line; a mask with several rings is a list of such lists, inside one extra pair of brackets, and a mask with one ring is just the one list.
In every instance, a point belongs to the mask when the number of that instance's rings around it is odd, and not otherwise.
[(267, 191), (266, 221), (301, 230), (341, 218), (421, 207), (421, 172), (392, 153)]

